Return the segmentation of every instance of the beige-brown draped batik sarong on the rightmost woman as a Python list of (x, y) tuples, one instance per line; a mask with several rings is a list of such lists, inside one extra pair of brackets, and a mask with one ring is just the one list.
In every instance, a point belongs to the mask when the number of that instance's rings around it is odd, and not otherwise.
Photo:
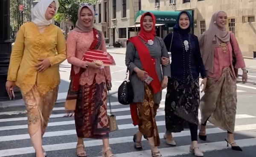
[(234, 132), (236, 121), (236, 80), (230, 68), (223, 70), (218, 80), (207, 79), (204, 96), (200, 100), (201, 122), (207, 119), (214, 126)]

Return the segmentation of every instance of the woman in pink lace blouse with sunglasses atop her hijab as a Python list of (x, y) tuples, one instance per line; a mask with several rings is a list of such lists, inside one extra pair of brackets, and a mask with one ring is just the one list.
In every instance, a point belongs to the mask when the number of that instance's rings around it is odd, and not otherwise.
[(106, 52), (101, 31), (93, 27), (94, 9), (90, 3), (81, 3), (76, 28), (67, 37), (67, 61), (72, 64), (71, 82), (65, 108), (75, 114), (76, 146), (79, 157), (87, 157), (83, 138), (102, 139), (102, 157), (114, 157), (109, 147), (107, 117), (107, 90), (111, 89), (109, 66), (103, 69), (95, 63), (83, 61), (87, 50)]

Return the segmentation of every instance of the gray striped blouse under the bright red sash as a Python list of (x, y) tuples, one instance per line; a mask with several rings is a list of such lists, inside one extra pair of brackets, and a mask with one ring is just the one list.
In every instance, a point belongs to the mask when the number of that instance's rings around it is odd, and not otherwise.
[[(162, 82), (163, 76), (171, 77), (171, 66), (170, 63), (167, 66), (161, 65), (161, 57), (169, 58), (168, 51), (166, 49), (166, 46), (164, 45), (163, 39), (160, 37), (154, 38), (154, 44), (152, 46), (149, 46), (146, 44), (142, 39), (140, 39), (145, 46), (149, 50), (149, 54), (152, 58), (155, 59), (155, 66), (156, 66), (156, 72), (157, 76)], [(133, 43), (129, 42), (127, 44), (126, 48), (126, 54), (125, 54), (125, 64), (129, 67), (129, 73), (130, 73), (130, 82), (133, 87), (134, 92), (134, 103), (141, 103), (144, 100), (145, 92), (144, 92), (144, 82), (141, 81), (138, 77), (136, 72), (134, 71), (134, 68), (139, 68), (143, 70), (142, 63), (140, 61), (139, 54), (134, 46)], [(163, 74), (162, 74), (163, 72)], [(159, 91), (157, 94), (154, 95), (154, 103), (160, 103), (162, 99), (162, 91)]]

